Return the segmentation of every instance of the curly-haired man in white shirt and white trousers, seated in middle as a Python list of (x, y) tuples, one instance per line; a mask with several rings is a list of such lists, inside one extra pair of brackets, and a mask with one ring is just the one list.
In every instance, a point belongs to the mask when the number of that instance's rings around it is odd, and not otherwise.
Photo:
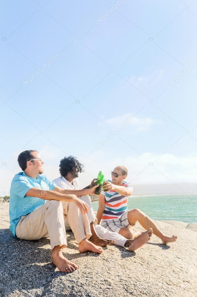
[[(54, 183), (62, 189), (78, 190), (79, 183), (76, 178), (79, 176), (79, 172), (80, 173), (83, 172), (83, 165), (75, 157), (69, 156), (69, 157), (64, 157), (60, 161), (59, 167), (60, 167), (59, 170), (60, 170), (61, 176), (54, 179)], [(94, 180), (86, 188), (91, 188), (93, 187), (93, 185), (95, 185)], [(130, 251), (134, 250), (132, 240), (128, 240), (118, 233), (108, 231), (106, 228), (103, 228), (101, 225), (97, 225), (98, 221), (97, 221), (96, 215), (94, 214), (89, 195), (80, 196), (79, 198), (85, 201), (90, 208), (90, 211), (87, 213), (87, 217), (90, 223), (90, 229), (92, 232), (91, 240), (93, 244), (103, 247), (113, 243), (117, 246), (128, 247)], [(65, 224), (65, 228), (66, 230), (71, 230), (68, 223)], [(147, 235), (147, 241), (148, 241), (148, 238), (150, 238), (151, 234), (147, 233), (146, 235)], [(140, 236), (137, 241), (139, 242), (137, 245), (135, 244), (135, 249), (142, 246), (142, 243), (143, 243), (142, 238)]]

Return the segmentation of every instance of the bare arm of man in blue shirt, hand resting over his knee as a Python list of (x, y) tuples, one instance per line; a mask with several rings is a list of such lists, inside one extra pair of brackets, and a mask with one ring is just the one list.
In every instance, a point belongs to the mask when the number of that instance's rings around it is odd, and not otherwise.
[(76, 195), (65, 195), (62, 193), (54, 192), (53, 190), (43, 190), (32, 187), (26, 192), (25, 196), (38, 197), (43, 200), (58, 200), (65, 202), (73, 202), (81, 211), (82, 214), (87, 214), (89, 211), (89, 206), (84, 201), (76, 197)]

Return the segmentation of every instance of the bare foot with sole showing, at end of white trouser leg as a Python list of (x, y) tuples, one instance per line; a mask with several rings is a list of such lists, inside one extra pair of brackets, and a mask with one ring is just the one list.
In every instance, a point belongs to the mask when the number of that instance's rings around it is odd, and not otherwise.
[(136, 249), (139, 249), (139, 247), (142, 247), (150, 240), (152, 233), (152, 228), (148, 229), (137, 238), (129, 240), (128, 242), (126, 241), (125, 247), (128, 247), (130, 252), (134, 252)]

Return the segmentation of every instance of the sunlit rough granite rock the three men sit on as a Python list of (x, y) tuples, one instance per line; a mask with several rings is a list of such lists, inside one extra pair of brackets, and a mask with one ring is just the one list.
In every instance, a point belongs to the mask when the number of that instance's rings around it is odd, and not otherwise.
[[(8, 208), (9, 203), (0, 204), (0, 296), (197, 296), (197, 233), (185, 225), (157, 222), (178, 241), (165, 246), (152, 236), (136, 253), (111, 245), (101, 255), (79, 254), (72, 232), (67, 232), (63, 253), (79, 269), (64, 274), (52, 263), (49, 238), (13, 238)], [(134, 228), (141, 229), (138, 223)]]

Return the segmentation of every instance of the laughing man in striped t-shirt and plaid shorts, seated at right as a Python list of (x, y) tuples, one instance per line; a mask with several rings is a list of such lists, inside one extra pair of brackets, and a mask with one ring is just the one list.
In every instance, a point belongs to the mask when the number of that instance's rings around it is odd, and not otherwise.
[(132, 195), (133, 187), (124, 179), (128, 170), (124, 166), (117, 166), (112, 172), (112, 181), (107, 181), (100, 195), (98, 195), (98, 211), (96, 217), (98, 224), (109, 231), (121, 234), (125, 238), (133, 239), (143, 232), (134, 232), (132, 226), (138, 221), (146, 230), (152, 228), (153, 234), (161, 238), (163, 244), (174, 242), (177, 236), (168, 237), (164, 235), (142, 211), (135, 208), (127, 211), (128, 197)]

